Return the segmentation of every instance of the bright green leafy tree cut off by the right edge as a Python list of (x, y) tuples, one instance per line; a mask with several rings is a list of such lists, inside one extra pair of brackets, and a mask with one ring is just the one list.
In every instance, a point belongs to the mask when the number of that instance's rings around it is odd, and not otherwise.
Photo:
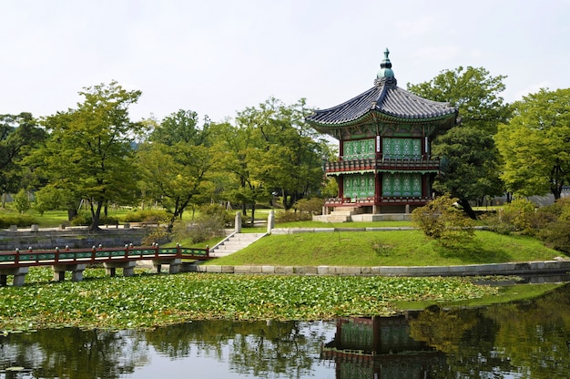
[(514, 103), (514, 117), (499, 127), (496, 140), (508, 189), (560, 199), (570, 182), (570, 88), (543, 88)]

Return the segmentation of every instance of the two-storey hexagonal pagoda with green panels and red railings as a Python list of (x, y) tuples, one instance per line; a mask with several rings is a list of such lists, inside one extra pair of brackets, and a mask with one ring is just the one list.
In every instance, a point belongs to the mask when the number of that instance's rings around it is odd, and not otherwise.
[(374, 87), (306, 118), (339, 140), (338, 159), (325, 163), (326, 176), (339, 186), (337, 197), (325, 200), (325, 216), (407, 214), (432, 200), (440, 170), (432, 140), (456, 124), (457, 109), (398, 87), (389, 54), (386, 49)]

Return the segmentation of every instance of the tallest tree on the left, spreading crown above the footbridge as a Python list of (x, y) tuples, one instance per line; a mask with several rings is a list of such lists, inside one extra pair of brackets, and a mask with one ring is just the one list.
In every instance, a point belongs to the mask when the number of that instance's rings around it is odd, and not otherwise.
[(137, 184), (133, 144), (143, 127), (130, 120), (128, 107), (141, 92), (127, 91), (113, 81), (86, 87), (79, 94), (85, 101), (76, 109), (44, 120), (49, 138), (34, 160), (54, 188), (65, 189), (75, 200), (88, 200), (89, 230), (97, 230), (108, 201), (133, 201)]

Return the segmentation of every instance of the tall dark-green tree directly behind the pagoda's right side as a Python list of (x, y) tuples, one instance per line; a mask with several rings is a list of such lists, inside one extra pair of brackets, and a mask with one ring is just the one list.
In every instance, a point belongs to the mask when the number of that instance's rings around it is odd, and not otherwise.
[(504, 78), (492, 77), (483, 67), (458, 67), (428, 82), (408, 84), (419, 96), (447, 101), (459, 109), (461, 123), (433, 142), (433, 155), (442, 157), (445, 164), (433, 188), (451, 193), (472, 219), (476, 214), (470, 200), (503, 193), (493, 136), (498, 124), (511, 114), (499, 96)]

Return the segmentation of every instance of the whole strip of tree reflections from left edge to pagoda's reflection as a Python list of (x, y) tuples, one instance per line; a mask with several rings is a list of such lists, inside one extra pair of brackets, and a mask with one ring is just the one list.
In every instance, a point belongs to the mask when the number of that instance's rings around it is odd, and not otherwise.
[(300, 377), (319, 360), (326, 333), (322, 323), (229, 321), (185, 323), (148, 332), (47, 329), (0, 336), (0, 362), (33, 367), (36, 377), (117, 378), (148, 364), (153, 346), (171, 359), (188, 356), (192, 349), (198, 356), (218, 358), (227, 352), (223, 358), (236, 372)]

